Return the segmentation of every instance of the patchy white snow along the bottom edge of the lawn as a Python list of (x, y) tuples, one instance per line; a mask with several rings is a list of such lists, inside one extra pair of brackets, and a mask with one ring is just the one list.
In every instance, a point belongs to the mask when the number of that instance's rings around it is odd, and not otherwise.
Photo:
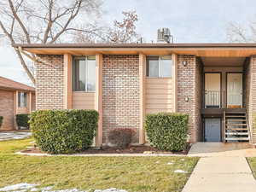
[[(37, 184), (30, 184), (30, 183), (19, 183), (14, 185), (5, 186), (0, 188), (0, 191), (5, 192), (32, 192), (32, 191), (42, 191), (42, 192), (89, 192), (85, 190), (79, 189), (61, 189), (61, 190), (51, 190), (53, 186), (45, 187), (45, 188), (37, 188)], [(91, 191), (91, 190), (90, 190)], [(124, 189), (96, 189), (94, 192), (127, 192)]]

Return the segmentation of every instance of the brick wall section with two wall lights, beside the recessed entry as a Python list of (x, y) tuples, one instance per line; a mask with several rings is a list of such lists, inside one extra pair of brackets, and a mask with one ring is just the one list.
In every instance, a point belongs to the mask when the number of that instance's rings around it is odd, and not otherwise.
[(189, 113), (189, 141), (201, 141), (201, 62), (194, 55), (177, 56), (177, 112)]

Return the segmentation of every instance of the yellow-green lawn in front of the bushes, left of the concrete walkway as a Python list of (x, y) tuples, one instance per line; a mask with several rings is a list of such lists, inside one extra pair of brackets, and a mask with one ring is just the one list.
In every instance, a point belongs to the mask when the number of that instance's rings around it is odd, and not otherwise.
[[(13, 154), (32, 139), (0, 142), (0, 188), (15, 183), (55, 189), (181, 191), (197, 158), (188, 157), (32, 157)], [(184, 160), (181, 160), (184, 159)], [(172, 165), (167, 165), (173, 161)], [(175, 173), (181, 169), (189, 173)]]

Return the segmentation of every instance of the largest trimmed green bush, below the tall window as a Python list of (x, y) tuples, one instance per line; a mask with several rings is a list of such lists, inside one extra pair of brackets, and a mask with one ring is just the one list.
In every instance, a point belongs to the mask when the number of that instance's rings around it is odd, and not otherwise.
[(89, 148), (98, 126), (95, 110), (41, 110), (29, 121), (38, 147), (50, 154), (70, 154)]

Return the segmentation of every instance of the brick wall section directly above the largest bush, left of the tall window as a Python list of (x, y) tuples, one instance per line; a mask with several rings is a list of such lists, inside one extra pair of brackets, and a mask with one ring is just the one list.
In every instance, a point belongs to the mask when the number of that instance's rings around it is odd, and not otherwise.
[(36, 108), (64, 108), (63, 55), (38, 55)]

